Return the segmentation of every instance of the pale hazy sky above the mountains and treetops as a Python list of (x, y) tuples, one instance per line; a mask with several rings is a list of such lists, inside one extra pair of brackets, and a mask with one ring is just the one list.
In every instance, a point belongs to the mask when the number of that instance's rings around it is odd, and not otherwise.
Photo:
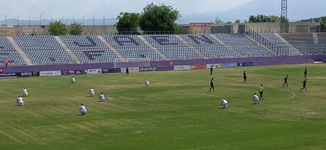
[(119, 12), (141, 12), (147, 2), (173, 5), (182, 15), (197, 13), (217, 13), (237, 7), (252, 0), (0, 0), (0, 20), (17, 18), (31, 19), (71, 18), (116, 18)]

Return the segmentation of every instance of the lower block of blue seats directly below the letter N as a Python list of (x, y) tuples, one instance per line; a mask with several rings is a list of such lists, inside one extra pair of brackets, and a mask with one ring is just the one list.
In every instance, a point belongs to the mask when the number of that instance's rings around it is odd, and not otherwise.
[(208, 58), (239, 57), (237, 53), (223, 45), (197, 46), (196, 48), (200, 50), (203, 54), (205, 54)]

